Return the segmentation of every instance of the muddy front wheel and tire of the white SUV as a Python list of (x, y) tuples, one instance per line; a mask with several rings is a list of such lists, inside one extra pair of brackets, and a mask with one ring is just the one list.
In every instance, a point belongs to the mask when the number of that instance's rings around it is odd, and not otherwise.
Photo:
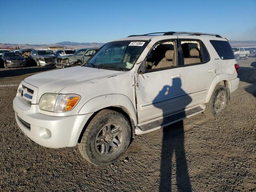
[(124, 154), (130, 139), (131, 127), (126, 116), (104, 109), (88, 124), (78, 149), (90, 163), (106, 165)]

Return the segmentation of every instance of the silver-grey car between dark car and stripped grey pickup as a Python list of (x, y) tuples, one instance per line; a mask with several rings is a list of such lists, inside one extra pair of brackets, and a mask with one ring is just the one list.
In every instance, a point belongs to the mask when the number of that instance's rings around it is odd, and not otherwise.
[(48, 50), (33, 50), (30, 58), (36, 62), (37, 66), (52, 66), (55, 64), (55, 56)]

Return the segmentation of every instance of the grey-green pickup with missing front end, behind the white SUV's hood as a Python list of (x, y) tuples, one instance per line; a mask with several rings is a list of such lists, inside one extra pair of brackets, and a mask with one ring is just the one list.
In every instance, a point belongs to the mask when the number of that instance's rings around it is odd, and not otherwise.
[(56, 68), (79, 66), (86, 62), (99, 48), (84, 48), (76, 51), (73, 55), (64, 55), (56, 58)]

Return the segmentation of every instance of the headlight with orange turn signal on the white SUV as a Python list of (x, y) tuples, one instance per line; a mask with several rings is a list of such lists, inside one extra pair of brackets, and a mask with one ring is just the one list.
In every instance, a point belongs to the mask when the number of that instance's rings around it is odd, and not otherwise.
[(75, 94), (43, 94), (39, 101), (39, 108), (50, 112), (66, 112), (72, 110), (80, 100)]

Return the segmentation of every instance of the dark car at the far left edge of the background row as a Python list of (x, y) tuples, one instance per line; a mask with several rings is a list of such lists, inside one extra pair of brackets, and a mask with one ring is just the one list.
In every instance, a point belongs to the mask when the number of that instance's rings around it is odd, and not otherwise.
[(19, 53), (4, 52), (1, 59), (4, 62), (4, 68), (26, 66), (26, 59)]

